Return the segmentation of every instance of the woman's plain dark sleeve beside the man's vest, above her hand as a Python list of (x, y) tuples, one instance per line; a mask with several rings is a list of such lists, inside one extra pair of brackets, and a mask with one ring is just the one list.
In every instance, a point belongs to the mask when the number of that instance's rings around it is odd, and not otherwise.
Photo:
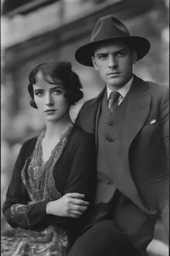
[(72, 167), (64, 194), (82, 193), (90, 203), (94, 199), (96, 182), (96, 145), (94, 136), (78, 137), (72, 154)]

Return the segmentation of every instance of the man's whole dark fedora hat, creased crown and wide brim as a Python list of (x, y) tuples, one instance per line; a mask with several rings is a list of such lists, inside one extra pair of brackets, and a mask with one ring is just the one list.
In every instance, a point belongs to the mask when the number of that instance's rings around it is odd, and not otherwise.
[(124, 23), (112, 15), (101, 17), (92, 31), (91, 43), (82, 45), (76, 50), (75, 58), (82, 65), (93, 67), (92, 56), (94, 49), (100, 43), (120, 39), (127, 43), (133, 51), (137, 51), (137, 60), (142, 59), (151, 47), (149, 41), (144, 37), (130, 35)]

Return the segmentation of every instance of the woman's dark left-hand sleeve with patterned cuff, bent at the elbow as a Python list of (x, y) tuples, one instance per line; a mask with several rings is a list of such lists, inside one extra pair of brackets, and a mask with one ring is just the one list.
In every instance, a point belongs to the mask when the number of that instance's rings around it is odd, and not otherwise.
[(21, 147), (3, 203), (3, 214), (9, 225), (23, 229), (30, 229), (44, 217), (47, 203), (46, 201), (29, 203), (31, 200), (21, 179), (21, 169), (25, 163), (27, 147), (29, 147), (27, 143)]

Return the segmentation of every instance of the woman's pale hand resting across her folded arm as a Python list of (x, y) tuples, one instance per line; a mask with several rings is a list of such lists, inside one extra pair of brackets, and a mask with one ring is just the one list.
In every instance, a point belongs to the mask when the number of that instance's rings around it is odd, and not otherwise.
[(62, 217), (79, 218), (88, 209), (89, 203), (83, 201), (80, 193), (67, 193), (58, 200), (46, 204), (46, 214)]

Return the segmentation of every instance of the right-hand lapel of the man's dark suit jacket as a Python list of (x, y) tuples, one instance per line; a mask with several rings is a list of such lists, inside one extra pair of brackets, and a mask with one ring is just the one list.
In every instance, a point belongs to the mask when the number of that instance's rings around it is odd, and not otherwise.
[[(149, 86), (146, 82), (138, 77), (134, 77), (131, 89), (129, 91), (129, 101), (126, 110), (126, 117), (124, 122), (124, 133), (122, 141), (122, 156), (124, 162), (124, 175), (120, 183), (120, 191), (128, 196), (135, 205), (137, 205), (145, 213), (152, 215), (154, 211), (149, 211), (139, 197), (135, 183), (131, 177), (129, 169), (129, 147), (131, 142), (140, 131), (150, 111), (151, 94), (149, 93)], [(130, 188), (130, 189), (129, 189)]]

